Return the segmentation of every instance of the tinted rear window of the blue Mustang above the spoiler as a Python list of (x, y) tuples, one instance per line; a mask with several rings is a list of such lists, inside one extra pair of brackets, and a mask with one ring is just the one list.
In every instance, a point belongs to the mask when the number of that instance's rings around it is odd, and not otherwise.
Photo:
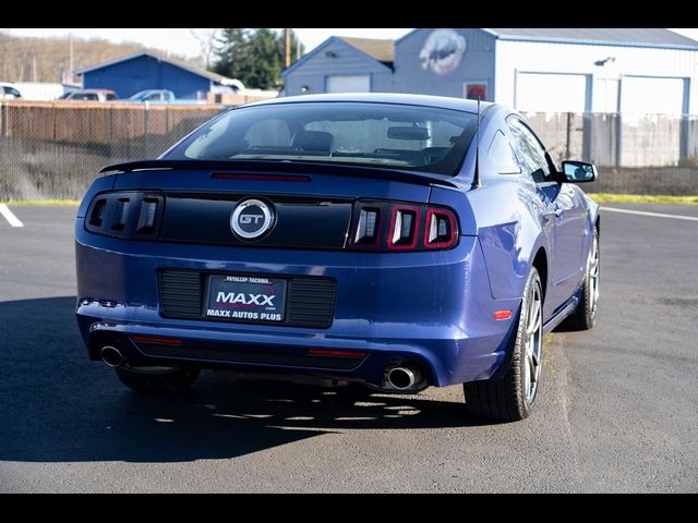
[(278, 160), (457, 174), (477, 115), (421, 106), (300, 102), (245, 107), (197, 130), (166, 159)]

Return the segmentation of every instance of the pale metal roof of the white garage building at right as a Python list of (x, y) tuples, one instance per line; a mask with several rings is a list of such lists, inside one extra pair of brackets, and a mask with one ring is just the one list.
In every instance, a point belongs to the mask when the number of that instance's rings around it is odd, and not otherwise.
[(564, 44), (597, 44), (698, 49), (698, 41), (673, 31), (660, 28), (539, 28), (486, 31), (503, 40), (550, 41)]

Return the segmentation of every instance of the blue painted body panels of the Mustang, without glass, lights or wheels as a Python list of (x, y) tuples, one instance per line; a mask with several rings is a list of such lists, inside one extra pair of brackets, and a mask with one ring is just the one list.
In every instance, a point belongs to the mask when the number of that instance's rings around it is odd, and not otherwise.
[[(280, 99), (263, 104), (344, 100), (436, 106), (474, 112), (469, 100), (407, 95), (337, 95)], [(300, 101), (299, 101), (300, 100)], [(508, 136), (512, 113), (489, 106), (480, 130), (482, 186), (472, 190), (476, 147), (460, 173), (447, 184), (412, 184), (381, 178), (339, 174), (327, 165), (311, 183), (218, 180), (206, 170), (147, 170), (106, 175), (95, 181), (77, 212), (77, 320), (89, 355), (97, 360), (97, 337), (125, 337), (132, 365), (195, 364), (315, 374), (384, 385), (386, 365), (411, 361), (428, 381), (447, 386), (488, 379), (508, 365), (507, 346), (518, 319), (524, 285), (537, 255), (547, 267), (544, 302), (546, 330), (577, 304), (598, 206), (575, 185), (535, 184), (524, 174), (498, 174), (486, 151), (494, 134)], [(112, 190), (264, 196), (375, 198), (432, 204), (453, 209), (460, 238), (452, 250), (417, 253), (300, 251), (225, 245), (128, 241), (85, 229), (95, 195)], [(540, 259), (540, 258), (539, 258)], [(327, 329), (244, 325), (165, 318), (158, 302), (157, 271), (196, 269), (268, 277), (322, 276), (337, 281), (335, 316)], [(495, 321), (495, 311), (512, 309)], [(218, 341), (245, 348), (275, 348), (292, 354), (309, 349), (366, 352), (356, 368), (320, 370), (312, 366), (254, 362), (153, 357), (129, 338), (134, 335)]]

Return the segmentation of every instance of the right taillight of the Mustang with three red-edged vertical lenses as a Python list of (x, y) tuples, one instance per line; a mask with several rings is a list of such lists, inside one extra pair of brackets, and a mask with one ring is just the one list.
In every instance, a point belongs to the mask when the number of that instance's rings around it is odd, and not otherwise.
[(458, 242), (454, 211), (436, 206), (358, 202), (347, 248), (351, 251), (432, 251)]

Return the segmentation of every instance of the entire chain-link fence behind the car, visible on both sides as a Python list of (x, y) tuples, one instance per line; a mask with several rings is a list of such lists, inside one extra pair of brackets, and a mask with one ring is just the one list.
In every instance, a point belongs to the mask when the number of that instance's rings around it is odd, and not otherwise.
[[(155, 158), (222, 106), (0, 102), (0, 202), (80, 199), (109, 163)], [(698, 193), (698, 117), (529, 113), (557, 161), (601, 168), (593, 190)]]

